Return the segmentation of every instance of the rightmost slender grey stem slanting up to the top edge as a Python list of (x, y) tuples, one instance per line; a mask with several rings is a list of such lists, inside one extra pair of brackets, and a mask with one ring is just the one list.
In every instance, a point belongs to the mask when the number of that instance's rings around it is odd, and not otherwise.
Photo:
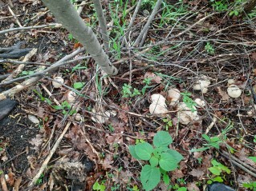
[(133, 44), (133, 47), (138, 46), (139, 44), (140, 45), (143, 44), (143, 42), (144, 42), (143, 36), (148, 34), (148, 28), (149, 28), (153, 18), (156, 16), (156, 13), (159, 10), (162, 2), (163, 2), (163, 0), (158, 0), (156, 2), (156, 6), (152, 10), (152, 14), (150, 14), (150, 16), (148, 18), (148, 22), (144, 25), (143, 30), (140, 31), (138, 38), (136, 39), (136, 41)]

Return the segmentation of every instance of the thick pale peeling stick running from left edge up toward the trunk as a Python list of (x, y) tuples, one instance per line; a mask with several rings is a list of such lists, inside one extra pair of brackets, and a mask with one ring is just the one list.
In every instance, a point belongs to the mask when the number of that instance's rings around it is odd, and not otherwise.
[[(47, 68), (47, 70), (44, 70), (45, 66), (41, 66), (41, 67), (39, 67), (39, 71), (43, 70), (45, 73), (47, 73), (49, 71), (55, 70), (57, 67), (59, 67), (59, 65), (62, 65), (63, 62), (65, 62), (66, 60), (69, 60), (69, 59), (75, 57), (75, 55), (77, 55), (80, 52), (82, 52), (82, 50), (84, 50), (84, 49), (82, 48), (82, 49), (75, 50), (75, 52), (73, 52), (71, 54), (68, 54), (64, 58), (60, 59), (59, 62), (56, 62), (53, 66)], [(43, 75), (45, 73), (43, 73), (43, 74), (41, 72), (35, 73), (35, 74), (38, 74), (36, 77), (30, 78), (30, 79), (26, 80), (25, 82), (22, 82), (21, 84), (18, 84), (17, 86), (14, 86), (10, 90), (6, 90), (6, 91), (2, 92), (0, 94), (0, 101), (3, 100), (3, 99), (6, 99), (6, 97), (12, 97), (14, 94), (17, 94), (18, 92), (24, 90), (25, 88), (31, 86), (32, 84), (34, 84), (36, 82), (38, 82), (41, 78), (43, 78)]]

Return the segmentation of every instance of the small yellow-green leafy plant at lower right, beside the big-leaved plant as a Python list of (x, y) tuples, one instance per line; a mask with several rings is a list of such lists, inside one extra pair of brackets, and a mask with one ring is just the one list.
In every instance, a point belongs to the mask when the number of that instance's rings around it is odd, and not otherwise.
[(213, 173), (213, 176), (210, 177), (210, 180), (207, 181), (208, 184), (213, 183), (213, 181), (218, 181), (218, 182), (223, 182), (222, 177), (220, 176), (221, 173), (227, 173), (230, 174), (231, 171), (228, 167), (226, 167), (225, 165), (222, 165), (220, 162), (217, 162), (216, 160), (213, 159), (213, 161), (211, 161), (212, 163), (212, 167), (209, 167), (209, 171), (211, 173)]

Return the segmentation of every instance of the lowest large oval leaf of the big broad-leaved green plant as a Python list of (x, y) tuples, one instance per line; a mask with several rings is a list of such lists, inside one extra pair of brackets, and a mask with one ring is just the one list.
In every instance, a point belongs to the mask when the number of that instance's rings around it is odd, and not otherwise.
[(140, 180), (145, 190), (152, 190), (161, 180), (159, 168), (151, 165), (144, 165), (140, 172)]

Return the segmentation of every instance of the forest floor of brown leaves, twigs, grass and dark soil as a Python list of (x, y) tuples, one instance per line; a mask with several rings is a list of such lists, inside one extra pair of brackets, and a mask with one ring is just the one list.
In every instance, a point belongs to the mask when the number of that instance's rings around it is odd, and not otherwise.
[[(153, 190), (198, 191), (214, 181), (256, 189), (256, 12), (235, 16), (238, 1), (166, 0), (144, 43), (133, 47), (154, 3), (143, 1), (127, 31), (136, 1), (103, 1), (116, 76), (104, 75), (85, 51), (12, 96), (18, 105), (0, 121), (1, 190), (144, 190), (140, 172), (148, 161), (132, 157), (131, 145), (156, 146), (153, 138), (160, 131), (169, 133), (169, 149), (183, 158), (164, 180), (150, 181)], [(102, 42), (93, 3), (77, 4)], [(40, 1), (0, 1), (0, 46), (25, 42), (36, 49), (29, 62), (0, 58), (0, 74), (11, 74), (22, 63), (16, 78), (26, 81), (39, 67), (78, 50), (81, 44), (72, 34), (49, 26), (57, 22)], [(48, 26), (5, 31), (43, 25)], [(127, 46), (122, 46), (124, 34)], [(63, 78), (58, 88), (56, 77)], [(208, 84), (204, 93), (202, 81)], [(238, 93), (230, 97), (232, 87)], [(176, 103), (171, 89), (181, 92)], [(155, 106), (167, 112), (150, 109), (154, 94)], [(185, 119), (181, 105), (189, 112)]]

